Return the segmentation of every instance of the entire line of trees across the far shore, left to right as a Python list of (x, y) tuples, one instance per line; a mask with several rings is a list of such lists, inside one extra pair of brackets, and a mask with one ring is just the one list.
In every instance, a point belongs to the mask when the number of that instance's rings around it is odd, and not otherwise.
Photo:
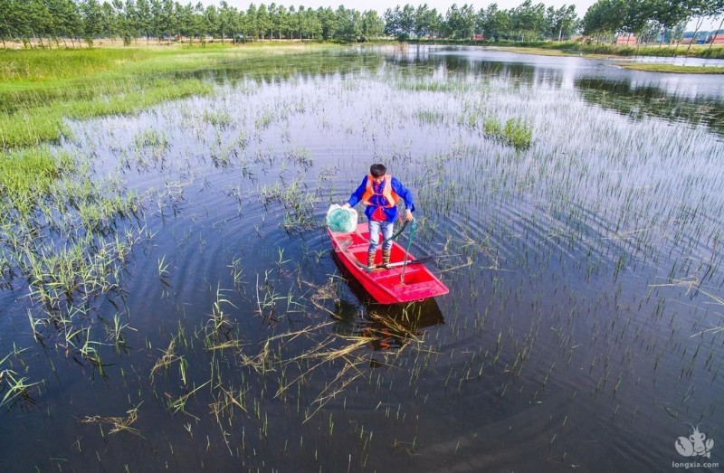
[(182, 5), (174, 0), (0, 0), (0, 40), (43, 47), (99, 38), (168, 41), (206, 38), (246, 42), (315, 39), (359, 42), (383, 36), (469, 40), (560, 41), (576, 33), (589, 36), (683, 31), (692, 18), (724, 14), (724, 0), (598, 0), (583, 19), (574, 5), (559, 8), (525, 0), (508, 10), (497, 4), (475, 9), (453, 4), (443, 14), (427, 4), (396, 5), (380, 16), (338, 6), (317, 9), (250, 4), (238, 9)]

